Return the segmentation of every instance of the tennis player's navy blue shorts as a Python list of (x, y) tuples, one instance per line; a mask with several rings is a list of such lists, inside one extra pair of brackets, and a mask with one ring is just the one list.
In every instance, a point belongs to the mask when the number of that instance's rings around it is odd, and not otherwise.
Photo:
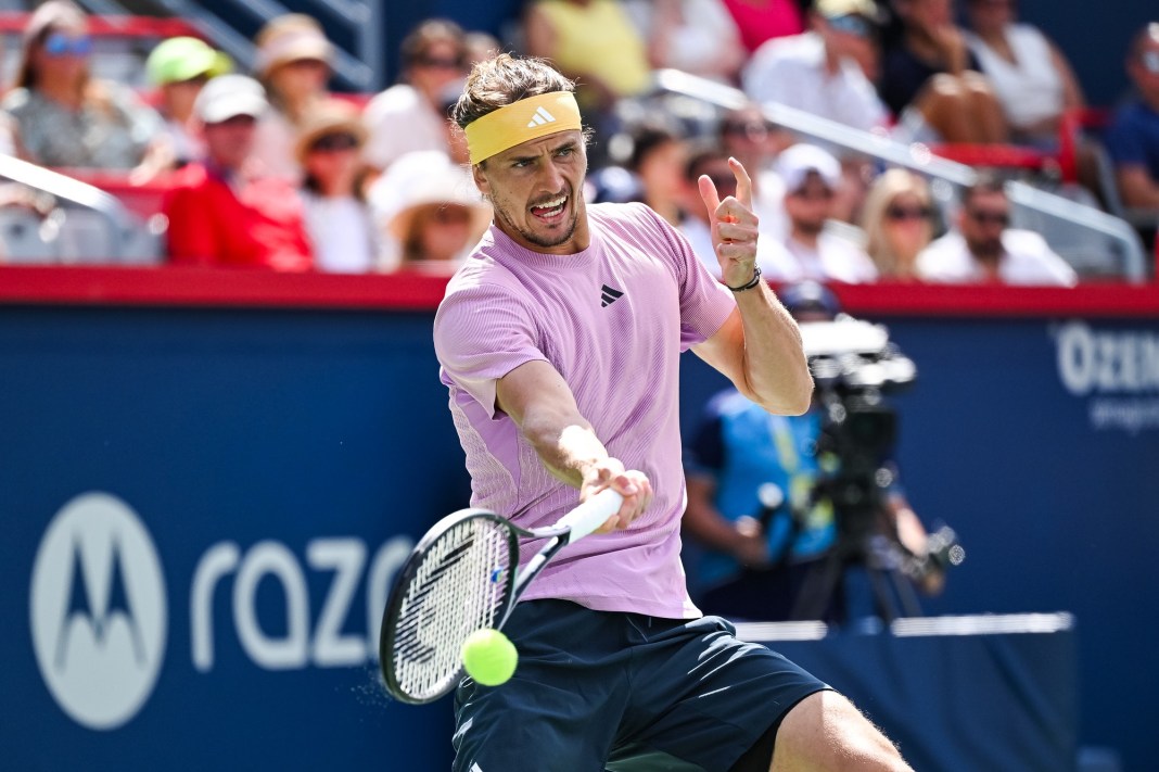
[(459, 685), (457, 772), (726, 771), (829, 689), (720, 617), (529, 600), (503, 631), (519, 667), (502, 686)]

